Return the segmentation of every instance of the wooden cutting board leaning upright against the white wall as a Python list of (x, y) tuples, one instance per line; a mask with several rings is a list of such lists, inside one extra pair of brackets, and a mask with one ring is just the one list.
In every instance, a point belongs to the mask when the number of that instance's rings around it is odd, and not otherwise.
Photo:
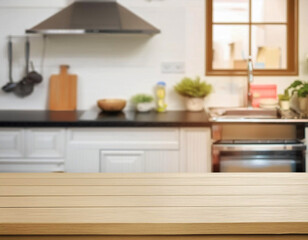
[(49, 110), (73, 111), (77, 109), (77, 75), (68, 73), (69, 66), (61, 65), (60, 74), (49, 80)]

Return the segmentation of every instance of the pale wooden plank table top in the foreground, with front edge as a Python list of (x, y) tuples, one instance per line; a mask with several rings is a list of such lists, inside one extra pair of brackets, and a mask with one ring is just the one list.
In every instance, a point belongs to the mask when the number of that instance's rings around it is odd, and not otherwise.
[(308, 234), (308, 174), (1, 173), (0, 235)]

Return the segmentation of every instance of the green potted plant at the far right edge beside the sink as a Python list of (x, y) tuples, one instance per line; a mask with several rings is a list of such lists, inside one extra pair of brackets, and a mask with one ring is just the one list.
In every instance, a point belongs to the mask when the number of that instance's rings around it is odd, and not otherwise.
[(308, 82), (295, 80), (287, 89), (292, 91), (292, 96), (298, 98), (298, 108), (304, 115), (308, 114)]

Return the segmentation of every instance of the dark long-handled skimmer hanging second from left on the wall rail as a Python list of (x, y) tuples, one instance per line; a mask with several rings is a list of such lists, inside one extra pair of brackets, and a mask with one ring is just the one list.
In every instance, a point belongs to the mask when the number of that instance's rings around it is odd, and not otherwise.
[(14, 93), (19, 97), (26, 97), (33, 92), (33, 82), (29, 79), (29, 58), (30, 58), (30, 42), (27, 38), (25, 44), (25, 59), (26, 59), (26, 74), (22, 80), (19, 81), (16, 88), (14, 89)]

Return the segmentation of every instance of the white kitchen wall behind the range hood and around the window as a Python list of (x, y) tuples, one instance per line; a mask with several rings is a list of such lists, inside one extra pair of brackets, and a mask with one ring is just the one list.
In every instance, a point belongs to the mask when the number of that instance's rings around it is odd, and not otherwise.
[[(8, 80), (6, 43), (8, 35), (22, 35), (26, 28), (44, 20), (70, 1), (0, 0), (0, 84)], [(20, 99), (0, 92), (0, 109), (45, 109), (48, 78), (60, 64), (69, 64), (78, 74), (78, 109), (95, 107), (96, 100), (108, 97), (129, 99), (140, 92), (152, 93), (158, 81), (168, 85), (168, 106), (183, 109), (183, 99), (173, 91), (177, 81), (186, 76), (204, 76), (205, 72), (205, 0), (119, 0), (162, 33), (153, 37), (133, 35), (52, 36), (46, 39), (43, 64), (44, 82), (32, 95)], [(300, 73), (294, 77), (258, 77), (255, 83), (274, 83), (279, 92), (293, 80), (307, 80), (308, 1), (300, 0), (299, 60)], [(31, 58), (42, 71), (42, 39), (31, 39)], [(23, 40), (14, 39), (14, 79), (24, 68)], [(185, 74), (163, 74), (161, 63), (185, 62)], [(242, 104), (244, 77), (204, 77), (215, 92), (207, 106)]]

